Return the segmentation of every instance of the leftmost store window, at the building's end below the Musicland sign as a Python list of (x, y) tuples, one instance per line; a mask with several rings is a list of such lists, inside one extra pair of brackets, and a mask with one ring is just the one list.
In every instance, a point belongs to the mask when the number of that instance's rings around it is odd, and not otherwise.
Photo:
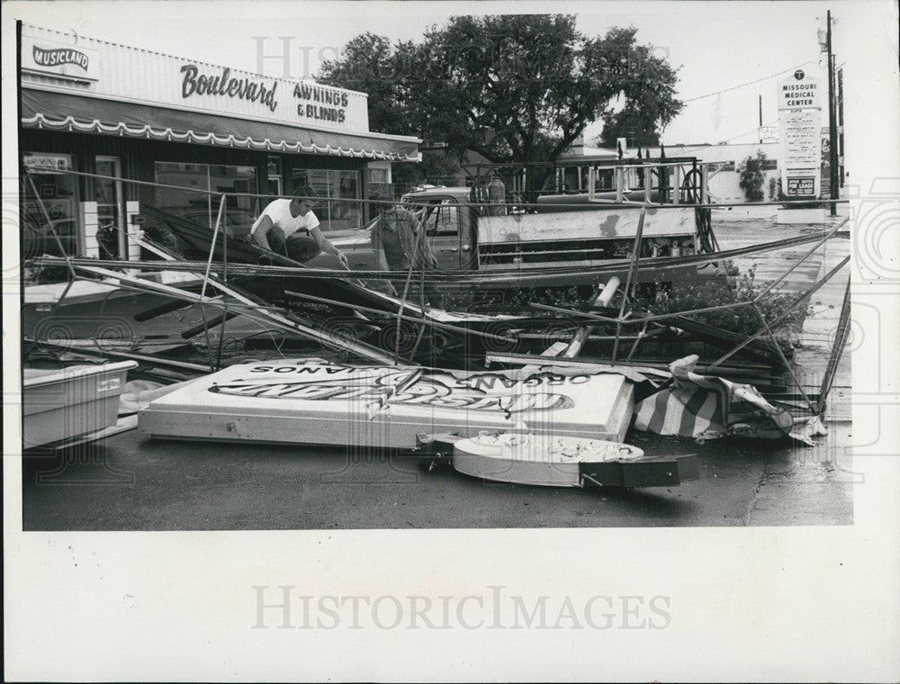
[[(23, 153), (22, 246), (26, 258), (41, 254), (83, 255), (78, 223), (78, 186), (71, 155)], [(31, 182), (28, 181), (31, 178)], [(48, 222), (49, 217), (49, 222)], [(54, 233), (59, 240), (54, 237)], [(60, 249), (60, 243), (62, 248)]]

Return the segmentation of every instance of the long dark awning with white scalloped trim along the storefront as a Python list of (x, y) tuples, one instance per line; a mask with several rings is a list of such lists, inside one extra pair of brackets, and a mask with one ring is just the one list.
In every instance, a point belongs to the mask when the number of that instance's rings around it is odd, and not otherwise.
[(419, 139), (351, 135), (43, 90), (22, 90), (23, 128), (267, 152), (419, 161)]

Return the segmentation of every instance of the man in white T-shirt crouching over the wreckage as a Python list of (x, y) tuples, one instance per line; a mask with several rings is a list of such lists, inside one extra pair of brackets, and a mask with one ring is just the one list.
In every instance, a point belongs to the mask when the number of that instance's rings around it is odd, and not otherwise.
[(269, 202), (250, 229), (254, 241), (259, 247), (301, 263), (325, 252), (338, 257), (341, 266), (347, 268), (347, 257), (322, 235), (319, 219), (312, 212), (319, 195), (306, 185), (296, 188), (293, 194), (291, 200)]

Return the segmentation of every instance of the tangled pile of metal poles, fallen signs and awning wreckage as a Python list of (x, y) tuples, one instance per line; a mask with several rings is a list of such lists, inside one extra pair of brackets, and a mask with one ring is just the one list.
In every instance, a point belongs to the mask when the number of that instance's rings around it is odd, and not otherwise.
[[(815, 429), (798, 429), (797, 417), (820, 415), (827, 392), (799, 389), (776, 331), (847, 260), (777, 320), (759, 298), (653, 315), (635, 310), (638, 269), (662, 267), (639, 257), (643, 222), (642, 212), (624, 284), (609, 275), (580, 310), (534, 303), (515, 314), (445, 311), (377, 283), (447, 275), (348, 274), (268, 254), (257, 255), (265, 266), (229, 264), (225, 249), (214, 262), (218, 225), (206, 262), (130, 236), (155, 258), (31, 260), (69, 277), (26, 288), (23, 354), (127, 360), (132, 380), (172, 385), (129, 394), (154, 437), (403, 449), (431, 464), (452, 455), (457, 470), (505, 482), (662, 486), (697, 475), (691, 457), (623, 444), (633, 421), (698, 439), (808, 440)], [(806, 236), (817, 243), (809, 254), (836, 232)], [(672, 258), (688, 257), (662, 261)], [(518, 269), (516, 283), (524, 277)], [(756, 312), (756, 333), (697, 317), (736, 307)], [(835, 355), (842, 347), (836, 339)]]

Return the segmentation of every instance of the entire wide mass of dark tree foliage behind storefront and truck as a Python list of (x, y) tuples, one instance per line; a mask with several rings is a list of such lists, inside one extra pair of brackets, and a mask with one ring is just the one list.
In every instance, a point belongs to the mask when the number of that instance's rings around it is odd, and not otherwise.
[(418, 43), (357, 36), (320, 81), (368, 93), (373, 130), (446, 142), (460, 158), (550, 161), (595, 121), (656, 131), (680, 112), (676, 71), (635, 34), (589, 38), (563, 14), (456, 16)]

